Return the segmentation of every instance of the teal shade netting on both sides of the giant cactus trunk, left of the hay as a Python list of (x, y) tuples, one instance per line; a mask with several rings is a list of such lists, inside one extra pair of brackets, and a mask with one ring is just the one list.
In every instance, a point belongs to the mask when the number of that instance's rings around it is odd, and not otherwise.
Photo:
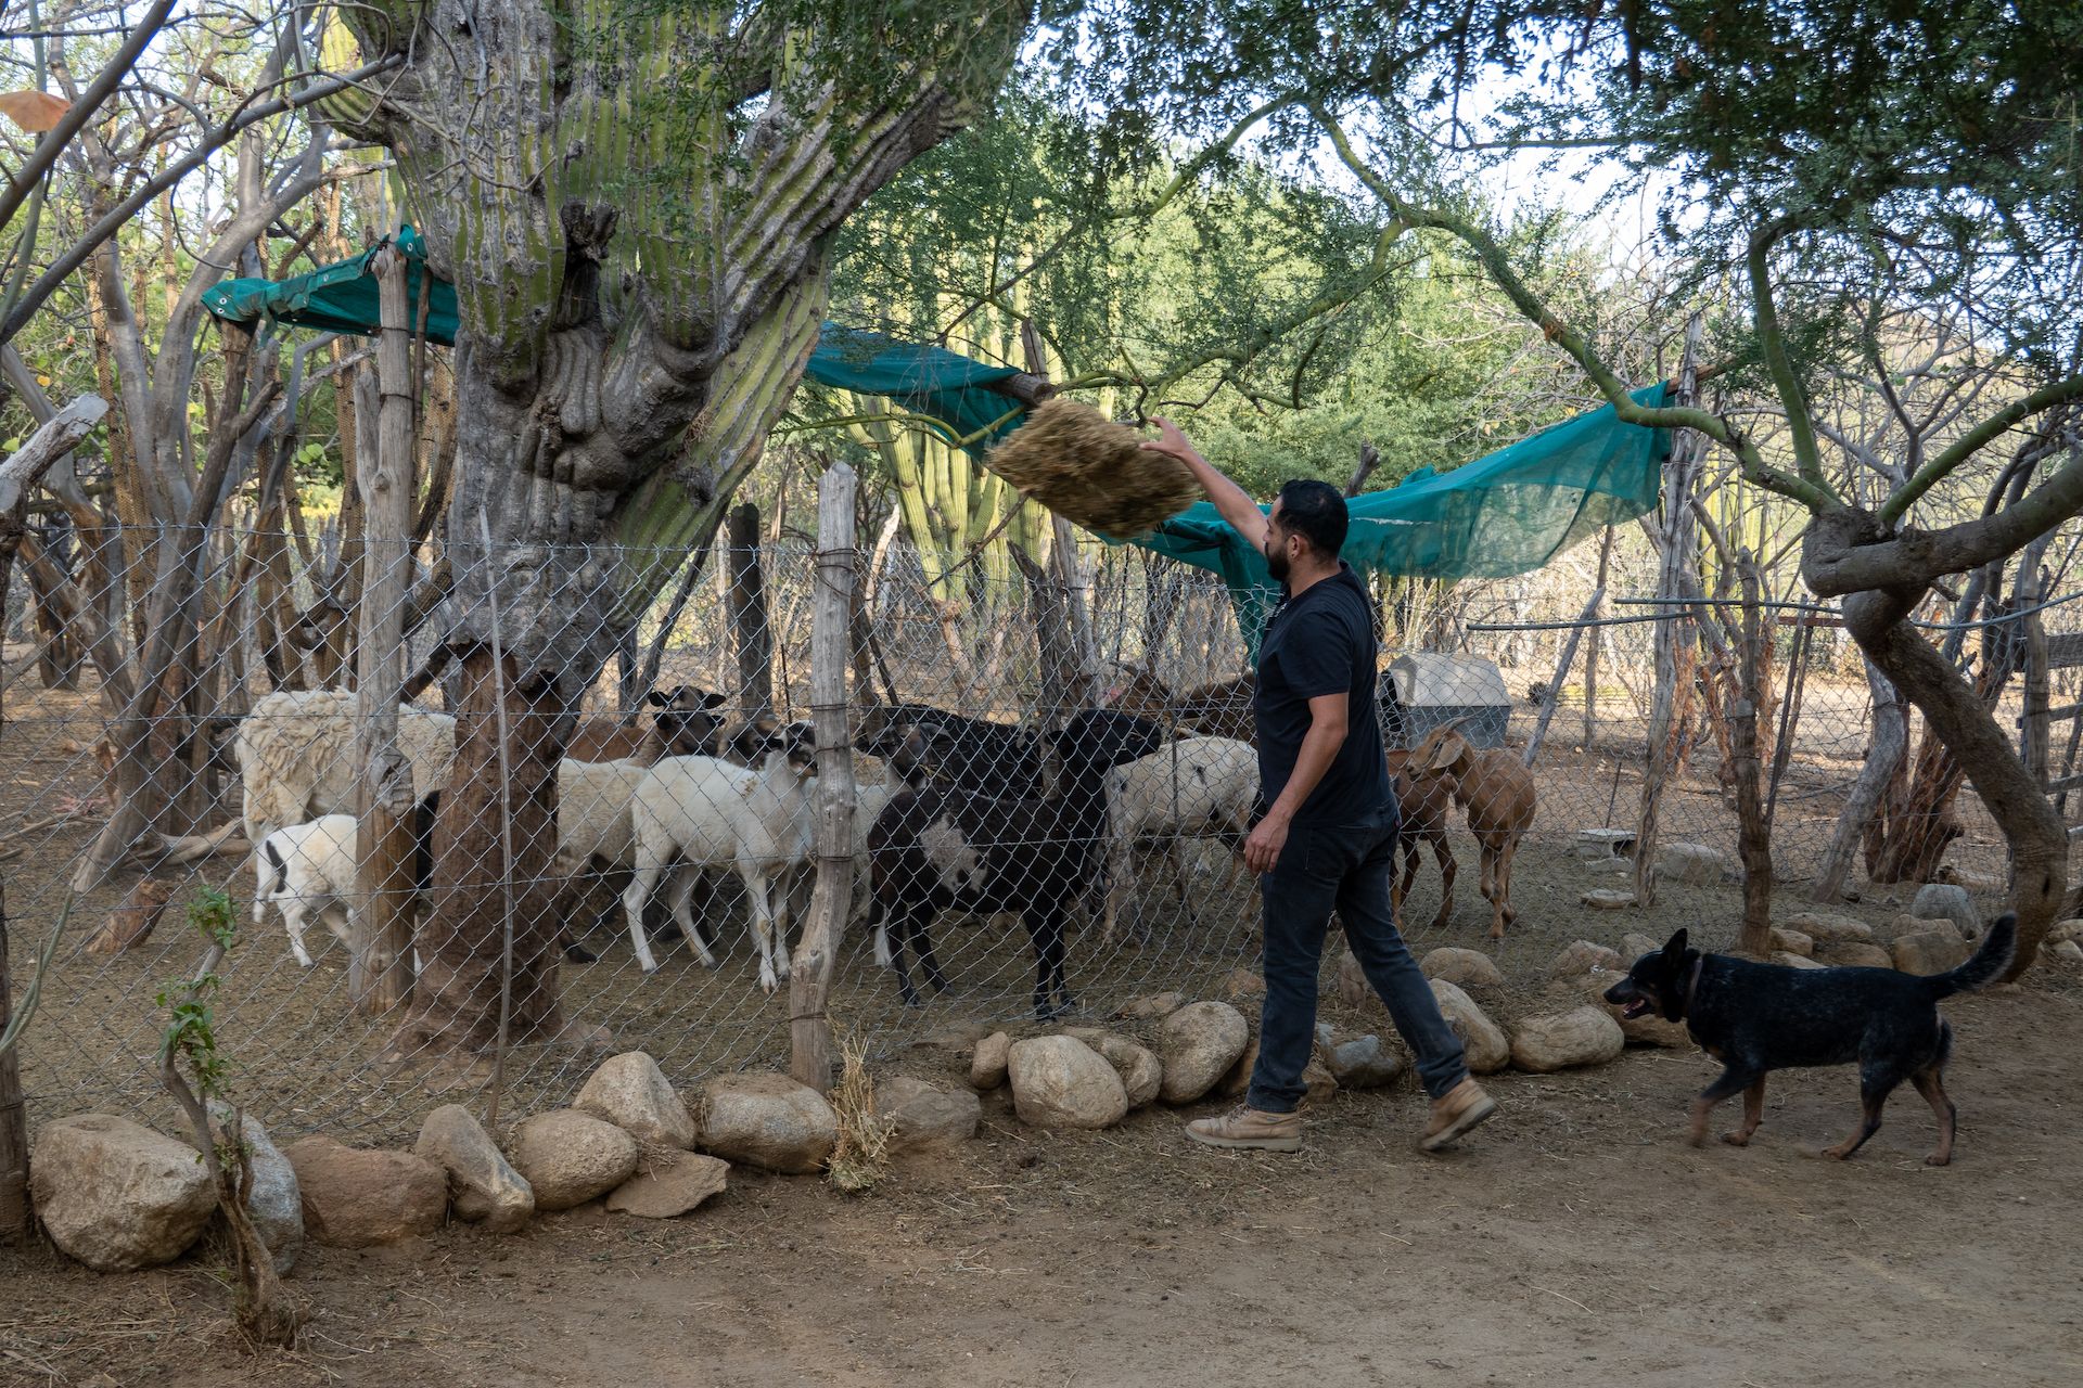
[[(427, 268), (427, 246), (412, 227), (398, 233), (396, 246), (406, 256), (410, 327), (419, 318), (419, 277)], [(227, 279), (204, 291), (202, 306), (219, 318), (250, 327), (287, 323), (369, 335), (381, 323), (377, 279), (369, 268), (377, 250), (296, 279)], [(433, 279), (427, 291), (427, 339), (456, 341), (456, 287), (444, 279)], [(837, 323), (819, 329), (804, 375), (821, 385), (898, 400), (950, 443), (969, 439), (973, 454), (1021, 422), (1019, 402), (989, 389), (994, 381), (1017, 377), (1012, 366), (987, 366), (944, 348), (919, 348)]]

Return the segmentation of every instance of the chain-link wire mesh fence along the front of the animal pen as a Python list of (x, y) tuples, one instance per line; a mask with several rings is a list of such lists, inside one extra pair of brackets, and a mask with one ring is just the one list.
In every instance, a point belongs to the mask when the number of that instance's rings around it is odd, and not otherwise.
[[(221, 1051), (242, 1097), (287, 1132), (398, 1136), (433, 1103), (487, 1086), (483, 1055), (415, 1026), (435, 995), (539, 1022), (515, 1028), (502, 1065), (521, 1107), (569, 1099), (606, 1047), (650, 1051), (675, 1082), (785, 1063), (781, 980), (814, 876), (808, 547), (719, 551), (685, 601), (669, 597), (673, 583), (631, 579), (671, 576), (685, 556), (596, 556), (585, 583), (625, 585), (617, 601), (577, 587), (550, 601), (612, 614), (614, 631), (589, 645), (617, 656), (525, 708), (502, 689), (506, 710), (444, 664), (442, 610), (425, 597), (440, 564), (421, 564), (402, 599), (415, 678), (396, 735), (410, 847), (373, 893), (356, 799), (356, 593), (337, 581), (352, 564), (298, 535), (210, 535), (200, 556), (167, 543), (52, 539), (25, 551), (31, 583), (15, 585), (0, 870), (17, 982), (25, 955), (54, 941), (23, 1043), (33, 1117), (152, 1101), (154, 997), (202, 953), (181, 914), (204, 889), (244, 916), (215, 1003)], [(185, 558), (204, 579), (194, 641), (144, 735), (127, 735), (152, 585)], [(1408, 753), (1452, 730), (1519, 762), (1546, 724), (1512, 930), (1596, 932), (1581, 897), (1618, 872), (1606, 849), (1639, 820), (1652, 624), (1598, 628), (1558, 676), (1583, 601), (1566, 581), (1381, 585), (1379, 597), (1385, 743)], [(1139, 549), (925, 564), (904, 545), (862, 547), (850, 633), (856, 893), (829, 997), (842, 1030), (889, 1051), (950, 1024), (1031, 1016), (1037, 988), (1044, 1009), (1108, 1016), (1137, 993), (1206, 995), (1254, 959), (1256, 884), (1235, 853), (1258, 785), (1252, 689), (1212, 574)], [(1773, 853), (1787, 882), (1814, 872), (1871, 724), (1841, 635), (1814, 628), (1810, 641), (1798, 695), (1781, 689), (1773, 712), (1787, 747)], [(1662, 841), (1721, 851), (1727, 870), (1673, 909), (1721, 914), (1733, 932), (1735, 812), (1700, 703), (1662, 787)], [(502, 732), (500, 712), (519, 722)], [(544, 772), (537, 753), (556, 745), (567, 755)], [(1435, 826), (1464, 868), (1479, 864), (1466, 809), (1477, 768), (1460, 766), (1458, 801), (1406, 782), (1408, 820)], [(465, 780), (492, 774), (515, 809), (458, 814), (485, 803), (458, 799)], [(117, 845), (112, 872), (60, 930), (81, 864), (140, 803), (146, 832)], [(1971, 797), (1954, 814), (1964, 832), (1946, 862), (1993, 897), (2002, 843)], [(1431, 845), (1410, 849), (1429, 866), (1402, 909), (1412, 943), (1479, 943), (1491, 907), (1471, 889), (1477, 874), (1441, 914)], [(1002, 909), (944, 909), (979, 899)], [(456, 968), (506, 949), (496, 928), (471, 934), (485, 920), (512, 922), (519, 957), (479, 982), (527, 980), (498, 999)], [(402, 932), (396, 963), (369, 953), (383, 928)], [(402, 986), (373, 984), (392, 970)]]

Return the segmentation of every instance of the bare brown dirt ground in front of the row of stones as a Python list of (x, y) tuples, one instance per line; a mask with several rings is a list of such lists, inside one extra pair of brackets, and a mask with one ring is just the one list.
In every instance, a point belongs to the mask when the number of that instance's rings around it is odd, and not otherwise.
[[(250, 1357), (223, 1271), (0, 1253), (8, 1384), (2075, 1384), (2073, 993), (1960, 999), (1952, 1167), (1914, 1095), (1850, 1163), (1846, 1070), (1779, 1076), (1746, 1151), (1679, 1142), (1696, 1053), (1498, 1076), (1421, 1157), (1410, 1088), (1337, 1095), (1300, 1157), (1185, 1113), (1048, 1134), (987, 1107), (956, 1159), (844, 1197), (733, 1172), (677, 1222), (583, 1207), (306, 1251), (308, 1344)], [(954, 1074), (954, 1051), (908, 1068)]]

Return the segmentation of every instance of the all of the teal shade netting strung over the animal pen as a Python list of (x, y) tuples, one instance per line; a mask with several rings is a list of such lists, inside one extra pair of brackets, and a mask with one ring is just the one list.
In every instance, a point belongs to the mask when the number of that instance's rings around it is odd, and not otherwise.
[[(412, 227), (398, 233), (406, 256), (406, 304), (419, 314), (427, 248)], [(375, 250), (298, 279), (229, 279), (202, 295), (233, 323), (287, 323), (331, 333), (377, 331)], [(456, 339), (456, 289), (431, 279), (427, 337)], [(1019, 375), (944, 348), (823, 325), (810, 362), (812, 381), (900, 402), (950, 443), (967, 439), (973, 456), (1021, 425), (1021, 406), (989, 389)], [(1662, 406), (1666, 385), (1635, 391)], [(1344, 558), (1362, 570), (1423, 579), (1504, 579), (1531, 572), (1596, 531), (1656, 506), (1671, 433), (1623, 425), (1612, 406), (1579, 414), (1531, 439), (1450, 472), (1421, 468), (1389, 491), (1352, 499)], [(1110, 543), (1121, 543), (1108, 537)], [(1264, 556), (1202, 502), (1133, 543), (1223, 574), (1237, 624), (1254, 658), (1264, 614), (1279, 599)]]

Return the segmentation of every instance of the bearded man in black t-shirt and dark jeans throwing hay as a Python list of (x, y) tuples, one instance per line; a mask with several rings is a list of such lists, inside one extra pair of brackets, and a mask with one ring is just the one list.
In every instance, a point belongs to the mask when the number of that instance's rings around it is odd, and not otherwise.
[(1266, 516), (1171, 420), (1158, 429), (1144, 447), (1191, 468), (1283, 587), (1258, 645), (1252, 699), (1264, 818), (1244, 841), (1264, 901), (1258, 1063), (1237, 1109), (1185, 1132), (1208, 1147), (1302, 1149), (1302, 1070), (1316, 1038), (1316, 974), (1335, 909), (1354, 959), (1416, 1057), (1433, 1101), (1419, 1145), (1437, 1151), (1498, 1105), (1469, 1078), (1460, 1036), (1396, 930), (1396, 791), (1375, 722), (1373, 610), (1366, 587), (1337, 558), (1346, 499), (1329, 483), (1294, 481)]

